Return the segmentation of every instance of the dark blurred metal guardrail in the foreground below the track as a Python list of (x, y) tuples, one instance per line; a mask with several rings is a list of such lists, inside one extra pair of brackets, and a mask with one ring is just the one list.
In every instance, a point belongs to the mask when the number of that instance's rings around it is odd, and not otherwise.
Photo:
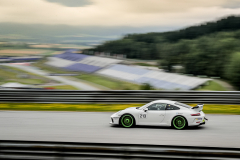
[(112, 143), (0, 141), (0, 159), (236, 159), (239, 148)]

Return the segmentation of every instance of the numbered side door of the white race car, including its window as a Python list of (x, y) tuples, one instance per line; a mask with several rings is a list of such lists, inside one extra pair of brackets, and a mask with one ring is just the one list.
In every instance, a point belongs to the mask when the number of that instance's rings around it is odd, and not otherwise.
[(165, 117), (166, 104), (154, 103), (148, 106), (147, 110), (140, 110), (139, 124), (140, 125), (160, 125)]

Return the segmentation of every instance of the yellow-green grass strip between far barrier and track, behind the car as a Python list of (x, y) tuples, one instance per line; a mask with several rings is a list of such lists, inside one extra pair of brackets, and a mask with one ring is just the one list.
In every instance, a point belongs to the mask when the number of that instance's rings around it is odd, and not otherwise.
[[(144, 104), (41, 104), (41, 103), (2, 103), (0, 110), (25, 111), (87, 111), (113, 112), (128, 107), (140, 107)], [(195, 104), (190, 104), (195, 106)], [(236, 114), (240, 115), (240, 105), (205, 104), (203, 112), (206, 114)]]

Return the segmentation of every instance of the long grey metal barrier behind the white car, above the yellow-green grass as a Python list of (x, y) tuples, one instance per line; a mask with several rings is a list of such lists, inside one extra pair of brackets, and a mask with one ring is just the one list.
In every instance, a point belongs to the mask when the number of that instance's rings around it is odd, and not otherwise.
[(158, 99), (183, 103), (240, 104), (240, 92), (0, 90), (1, 103), (147, 103)]

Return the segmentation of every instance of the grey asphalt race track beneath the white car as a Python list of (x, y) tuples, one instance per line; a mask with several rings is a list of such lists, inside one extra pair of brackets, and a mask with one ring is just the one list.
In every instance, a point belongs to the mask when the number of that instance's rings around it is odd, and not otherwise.
[(198, 128), (121, 128), (110, 112), (0, 111), (1, 140), (136, 143), (240, 148), (240, 115), (207, 115)]

